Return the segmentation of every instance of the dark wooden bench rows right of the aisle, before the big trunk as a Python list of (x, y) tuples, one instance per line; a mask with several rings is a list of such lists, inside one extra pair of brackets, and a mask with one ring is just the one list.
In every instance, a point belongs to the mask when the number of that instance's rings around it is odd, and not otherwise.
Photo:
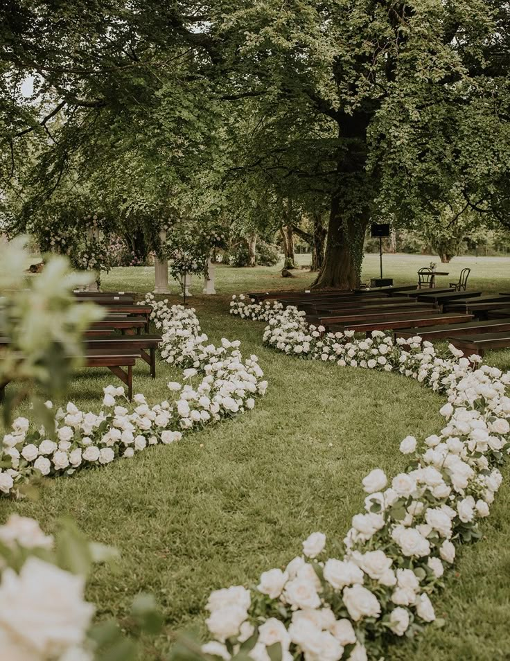
[[(510, 346), (510, 294), (456, 292), (415, 285), (322, 292), (249, 292), (258, 301), (277, 299), (307, 313), (310, 323), (328, 330), (394, 330), (400, 337), (446, 339), (464, 353)], [(507, 309), (508, 308), (508, 309)], [(473, 320), (477, 317), (477, 320)]]

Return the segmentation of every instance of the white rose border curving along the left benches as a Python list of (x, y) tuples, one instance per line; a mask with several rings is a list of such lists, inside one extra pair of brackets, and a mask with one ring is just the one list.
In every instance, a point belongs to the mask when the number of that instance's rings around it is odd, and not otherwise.
[[(265, 393), (267, 381), (257, 358), (243, 361), (240, 342), (206, 344), (193, 308), (168, 308), (167, 301), (157, 302), (152, 294), (144, 302), (152, 305), (151, 319), (161, 330), (161, 358), (184, 370), (186, 385), (170, 382), (172, 401), (153, 406), (137, 394), (131, 410), (117, 399), (125, 399), (122, 386), (105, 388), (106, 412), (85, 413), (69, 402), (65, 411), (55, 413), (55, 440), (44, 428), (30, 430), (27, 418), (16, 418), (0, 446), (0, 493), (17, 493), (34, 474), (73, 475), (80, 468), (133, 457), (157, 443), (173, 443), (188, 430), (252, 409), (254, 397)], [(201, 378), (193, 387), (195, 377)]]

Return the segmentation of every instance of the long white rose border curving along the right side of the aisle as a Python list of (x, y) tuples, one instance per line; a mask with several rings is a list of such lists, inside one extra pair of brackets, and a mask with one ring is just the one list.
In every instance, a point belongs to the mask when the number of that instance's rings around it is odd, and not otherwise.
[[(414, 337), (408, 346), (385, 333), (355, 340), (324, 333), (304, 313), (234, 299), (231, 312), (269, 321), (264, 343), (308, 360), (396, 371), (443, 394), (446, 426), (423, 443), (403, 439), (409, 458), (392, 479), (380, 468), (364, 477), (364, 511), (352, 518), (344, 556), (328, 558), (316, 532), (283, 570), (261, 575), (256, 588), (211, 594), (207, 625), (216, 640), (204, 651), (229, 659), (238, 650), (256, 661), (364, 661), (413, 637), (436, 619), (430, 597), (442, 585), (455, 547), (480, 538), (478, 522), (502, 481), (498, 467), (510, 449), (510, 372), (481, 365), (450, 346), (437, 355)], [(471, 362), (480, 360), (471, 357)]]

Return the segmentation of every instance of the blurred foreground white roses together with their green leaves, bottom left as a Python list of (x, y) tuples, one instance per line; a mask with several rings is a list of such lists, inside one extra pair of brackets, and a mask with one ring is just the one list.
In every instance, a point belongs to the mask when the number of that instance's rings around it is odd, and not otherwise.
[[(137, 633), (155, 633), (161, 617), (149, 595), (135, 599), (132, 637), (116, 622), (92, 624), (85, 600), (93, 563), (114, 549), (88, 543), (71, 523), (53, 538), (37, 521), (10, 515), (0, 526), (0, 649), (6, 661), (134, 661)], [(133, 636), (134, 634), (134, 636)]]

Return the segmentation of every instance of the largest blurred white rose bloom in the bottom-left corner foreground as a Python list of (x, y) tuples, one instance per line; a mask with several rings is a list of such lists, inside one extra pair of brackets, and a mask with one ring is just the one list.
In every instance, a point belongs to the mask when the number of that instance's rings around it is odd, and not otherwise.
[(0, 585), (0, 628), (37, 653), (55, 658), (80, 645), (94, 606), (83, 599), (85, 580), (30, 557), (19, 574), (6, 569)]

